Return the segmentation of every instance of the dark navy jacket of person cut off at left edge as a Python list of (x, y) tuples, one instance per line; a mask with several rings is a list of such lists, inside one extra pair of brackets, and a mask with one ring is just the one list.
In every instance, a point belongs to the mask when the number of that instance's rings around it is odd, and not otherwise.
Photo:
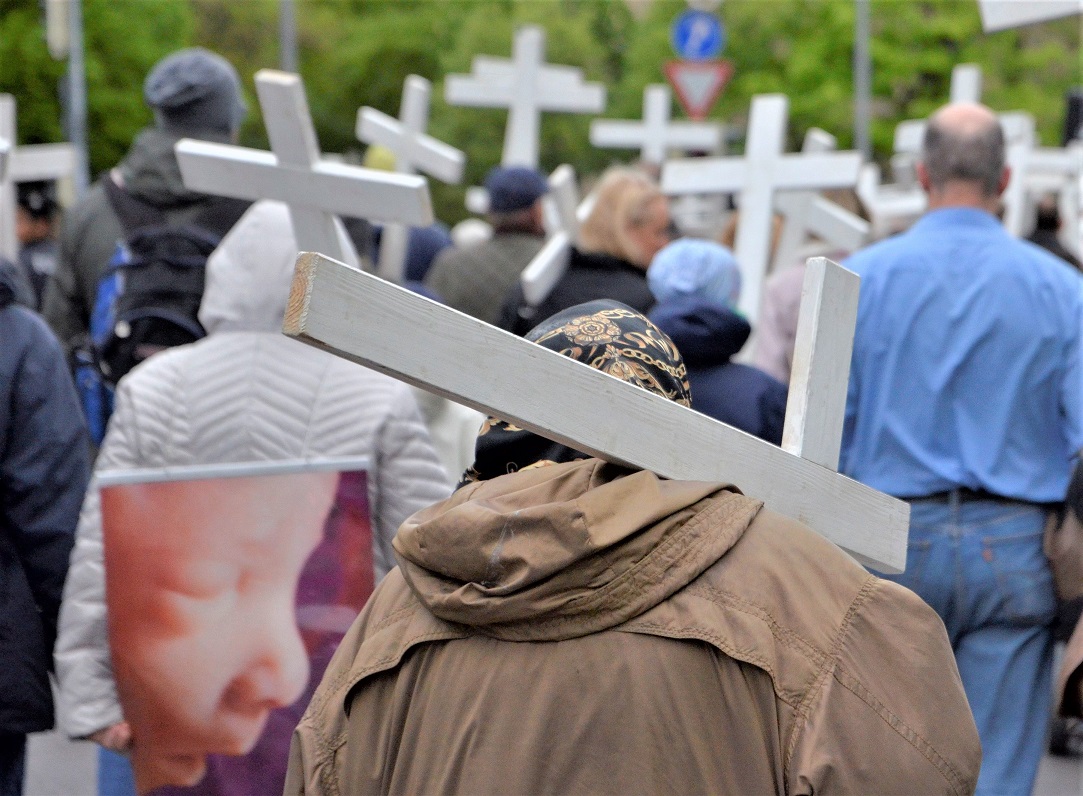
[(0, 732), (53, 726), (48, 673), (89, 478), (64, 354), (0, 272)]

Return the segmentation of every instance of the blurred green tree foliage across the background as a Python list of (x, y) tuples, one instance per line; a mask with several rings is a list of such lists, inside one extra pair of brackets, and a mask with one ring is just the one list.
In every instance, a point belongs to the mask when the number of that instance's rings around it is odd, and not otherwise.
[[(430, 132), (467, 153), (466, 184), (478, 184), (499, 162), (507, 113), (449, 107), (443, 78), (470, 70), (477, 54), (507, 57), (514, 29), (538, 24), (547, 57), (580, 67), (605, 83), (605, 116), (637, 118), (642, 91), (665, 80), (675, 57), (669, 26), (684, 0), (654, 0), (634, 16), (618, 0), (295, 0), (301, 73), (321, 144), (353, 153), (357, 108), (397, 115), (409, 74), (433, 81)], [(229, 57), (240, 73), (250, 113), (242, 142), (265, 146), (252, 75), (278, 63), (277, 0), (83, 0), (94, 170), (116, 162), (151, 119), (143, 77), (167, 52), (201, 44)], [(848, 0), (726, 0), (723, 57), (730, 86), (710, 117), (730, 126), (735, 148), (752, 97), (783, 92), (791, 101), (791, 145), (822, 127), (843, 146), (852, 134), (854, 8)], [(890, 154), (896, 125), (926, 116), (948, 99), (951, 69), (977, 63), (984, 101), (1000, 110), (1034, 114), (1046, 144), (1059, 141), (1065, 93), (1083, 82), (1079, 19), (986, 35), (975, 0), (872, 0), (873, 142)], [(0, 91), (19, 102), (19, 138), (62, 139), (57, 81), (64, 66), (45, 51), (37, 0), (0, 0)], [(679, 116), (679, 110), (675, 109)], [(593, 149), (590, 120), (548, 114), (542, 125), (542, 166), (574, 164), (580, 173), (634, 152)], [(433, 183), (438, 214), (465, 214), (462, 186)]]

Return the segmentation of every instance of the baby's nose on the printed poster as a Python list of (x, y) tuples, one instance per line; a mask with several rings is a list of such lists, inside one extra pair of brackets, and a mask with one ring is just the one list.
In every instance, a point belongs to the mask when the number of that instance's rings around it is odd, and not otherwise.
[(297, 628), (270, 629), (256, 655), (226, 688), (223, 703), (237, 713), (256, 713), (290, 705), (309, 681), (309, 656)]

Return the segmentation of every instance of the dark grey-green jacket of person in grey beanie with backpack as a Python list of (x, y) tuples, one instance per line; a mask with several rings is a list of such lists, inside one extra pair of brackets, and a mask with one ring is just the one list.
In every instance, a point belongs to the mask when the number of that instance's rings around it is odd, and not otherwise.
[[(195, 219), (208, 197), (184, 187), (173, 152), (181, 138), (157, 128), (143, 130), (103, 180), (114, 179), (136, 199), (165, 211), (170, 223)], [(41, 314), (67, 350), (90, 328), (99, 278), (122, 233), (102, 180), (64, 217), (56, 270), (45, 287)]]

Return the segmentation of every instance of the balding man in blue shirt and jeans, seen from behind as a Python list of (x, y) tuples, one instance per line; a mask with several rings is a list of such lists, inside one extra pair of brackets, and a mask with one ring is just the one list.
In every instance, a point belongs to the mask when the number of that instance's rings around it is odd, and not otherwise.
[(846, 261), (861, 299), (841, 471), (911, 504), (906, 571), (944, 621), (978, 726), (978, 794), (1031, 792), (1056, 598), (1042, 552), (1083, 447), (1083, 279), (996, 218), (1004, 134), (976, 104), (926, 128), (928, 212)]

